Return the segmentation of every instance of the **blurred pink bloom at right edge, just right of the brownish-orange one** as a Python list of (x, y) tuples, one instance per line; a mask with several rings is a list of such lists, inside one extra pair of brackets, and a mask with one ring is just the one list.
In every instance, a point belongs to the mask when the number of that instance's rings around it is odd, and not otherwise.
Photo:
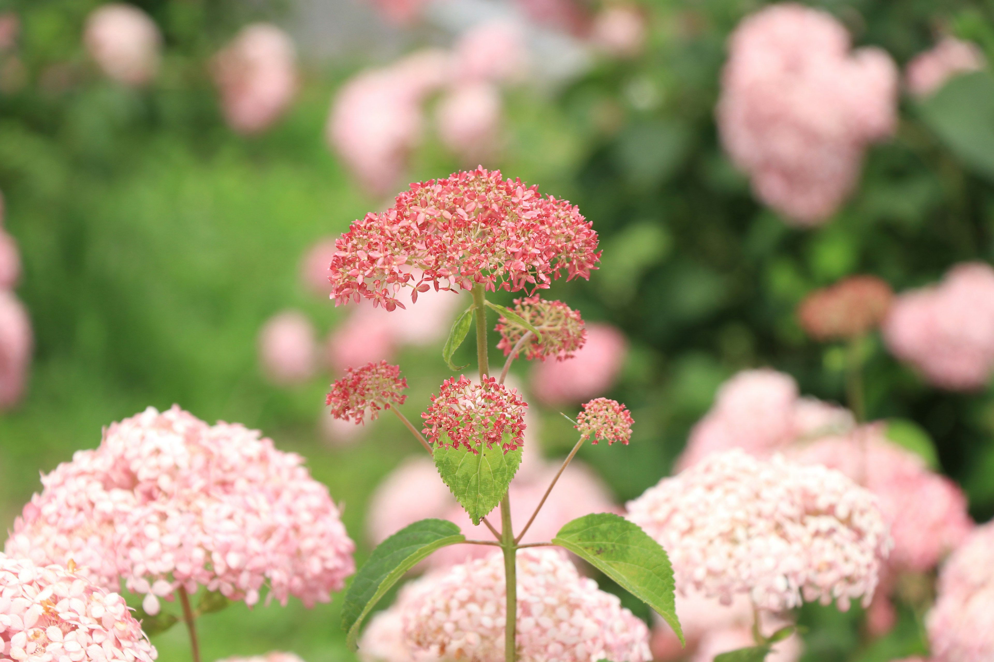
[(994, 372), (994, 268), (958, 264), (938, 285), (901, 294), (884, 338), (895, 356), (936, 386), (984, 387)]

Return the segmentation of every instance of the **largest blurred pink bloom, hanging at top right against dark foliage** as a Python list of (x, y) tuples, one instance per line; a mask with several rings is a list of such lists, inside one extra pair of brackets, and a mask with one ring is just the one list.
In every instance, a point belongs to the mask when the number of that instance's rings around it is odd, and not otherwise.
[(800, 225), (825, 221), (859, 179), (867, 144), (897, 121), (898, 70), (850, 52), (826, 12), (784, 3), (749, 16), (729, 42), (718, 123), (758, 199)]

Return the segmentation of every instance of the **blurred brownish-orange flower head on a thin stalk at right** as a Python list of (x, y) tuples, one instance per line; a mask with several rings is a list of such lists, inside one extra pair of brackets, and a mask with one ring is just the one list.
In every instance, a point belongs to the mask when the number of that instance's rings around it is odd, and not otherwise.
[(804, 298), (801, 328), (816, 339), (850, 338), (876, 329), (887, 317), (894, 293), (874, 276), (853, 276)]

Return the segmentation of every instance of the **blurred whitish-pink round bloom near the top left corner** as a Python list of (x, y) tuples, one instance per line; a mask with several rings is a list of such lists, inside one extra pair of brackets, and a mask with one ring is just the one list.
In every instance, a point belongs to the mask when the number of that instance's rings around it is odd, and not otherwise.
[(159, 29), (134, 5), (111, 2), (94, 9), (83, 43), (107, 76), (126, 85), (144, 85), (159, 70)]

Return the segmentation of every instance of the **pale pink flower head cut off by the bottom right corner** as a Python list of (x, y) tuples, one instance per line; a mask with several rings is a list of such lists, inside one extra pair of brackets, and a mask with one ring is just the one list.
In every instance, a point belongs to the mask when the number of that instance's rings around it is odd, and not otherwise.
[(977, 527), (949, 557), (926, 625), (934, 662), (994, 659), (994, 523)]

